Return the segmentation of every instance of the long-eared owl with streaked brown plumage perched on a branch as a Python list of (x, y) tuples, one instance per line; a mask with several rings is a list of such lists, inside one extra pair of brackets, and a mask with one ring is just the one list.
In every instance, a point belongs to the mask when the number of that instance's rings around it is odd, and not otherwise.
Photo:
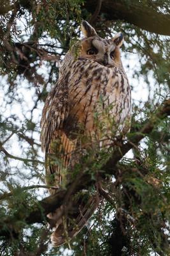
[[(101, 38), (85, 20), (81, 31), (84, 38), (72, 45), (64, 57), (41, 118), (46, 183), (56, 188), (69, 179), (64, 173), (74, 172), (81, 149), (87, 147), (79, 134), (92, 145), (99, 142), (99, 148), (108, 147), (117, 136), (125, 136), (131, 124), (131, 88), (120, 58), (122, 33), (111, 39)], [(50, 193), (55, 191), (50, 189)], [(48, 214), (55, 223), (55, 246), (78, 234), (99, 204), (93, 197), (86, 204), (81, 198), (70, 201), (73, 207), (67, 214), (66, 205)]]

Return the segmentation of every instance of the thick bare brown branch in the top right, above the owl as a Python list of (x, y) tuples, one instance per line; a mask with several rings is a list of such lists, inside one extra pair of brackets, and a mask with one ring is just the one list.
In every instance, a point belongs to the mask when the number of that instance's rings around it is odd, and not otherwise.
[[(85, 8), (94, 13), (96, 4), (97, 1), (87, 0)], [(170, 15), (157, 12), (137, 0), (103, 0), (100, 13), (104, 13), (107, 20), (125, 20), (146, 31), (170, 35)]]

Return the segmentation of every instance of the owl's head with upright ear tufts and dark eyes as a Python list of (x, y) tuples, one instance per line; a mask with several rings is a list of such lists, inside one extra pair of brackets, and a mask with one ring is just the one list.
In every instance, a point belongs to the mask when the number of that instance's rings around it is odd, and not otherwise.
[(85, 20), (81, 23), (81, 31), (85, 38), (81, 40), (80, 57), (89, 58), (106, 67), (122, 68), (120, 60), (120, 47), (124, 41), (122, 33), (118, 33), (111, 39), (103, 39)]

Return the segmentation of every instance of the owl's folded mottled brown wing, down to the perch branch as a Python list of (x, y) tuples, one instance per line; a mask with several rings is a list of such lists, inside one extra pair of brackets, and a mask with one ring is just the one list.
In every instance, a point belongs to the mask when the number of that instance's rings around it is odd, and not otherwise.
[(59, 79), (57, 86), (49, 93), (41, 118), (41, 147), (45, 152), (46, 183), (57, 188), (62, 180), (61, 170), (67, 168), (76, 145), (76, 140), (69, 138), (63, 129), (64, 121), (69, 116), (67, 87), (63, 84), (66, 81)]

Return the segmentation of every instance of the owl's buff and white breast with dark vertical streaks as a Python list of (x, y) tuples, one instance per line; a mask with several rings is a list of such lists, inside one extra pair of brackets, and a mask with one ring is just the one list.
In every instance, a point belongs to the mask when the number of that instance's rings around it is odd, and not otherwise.
[(95, 131), (97, 122), (108, 125), (108, 129), (111, 124), (115, 130), (124, 129), (131, 113), (131, 90), (122, 70), (92, 60), (74, 61), (68, 90), (70, 116), (86, 132)]

